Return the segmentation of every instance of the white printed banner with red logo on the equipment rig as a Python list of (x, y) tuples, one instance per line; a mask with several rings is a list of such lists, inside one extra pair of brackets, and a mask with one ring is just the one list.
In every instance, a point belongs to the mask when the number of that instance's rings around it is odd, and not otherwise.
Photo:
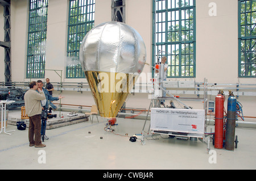
[(150, 129), (204, 134), (204, 110), (152, 108)]

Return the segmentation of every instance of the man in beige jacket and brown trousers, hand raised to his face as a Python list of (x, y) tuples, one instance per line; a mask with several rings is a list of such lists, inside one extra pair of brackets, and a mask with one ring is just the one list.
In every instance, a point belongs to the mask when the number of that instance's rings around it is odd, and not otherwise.
[[(35, 81), (30, 82), (29, 87), (30, 90), (24, 95), (25, 110), (30, 120), (30, 125), (28, 127), (28, 141), (30, 142), (30, 146), (43, 148), (46, 145), (42, 144), (40, 136), (42, 112), (40, 100), (45, 99), (46, 96), (44, 96), (43, 91), (38, 89)], [(38, 90), (38, 92), (36, 90)]]

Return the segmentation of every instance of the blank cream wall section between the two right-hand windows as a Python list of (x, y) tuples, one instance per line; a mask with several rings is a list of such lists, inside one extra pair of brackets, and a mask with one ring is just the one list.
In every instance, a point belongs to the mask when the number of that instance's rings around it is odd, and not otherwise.
[[(209, 3), (217, 16), (210, 16)], [(237, 1), (196, 1), (196, 79), (209, 82), (238, 81)]]

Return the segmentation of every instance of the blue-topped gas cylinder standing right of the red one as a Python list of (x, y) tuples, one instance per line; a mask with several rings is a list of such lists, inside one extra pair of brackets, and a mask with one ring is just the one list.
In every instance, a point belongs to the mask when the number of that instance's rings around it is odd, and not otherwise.
[(236, 107), (237, 99), (233, 94), (231, 94), (228, 98), (228, 112), (226, 115), (226, 150), (234, 150), (234, 138), (236, 129)]

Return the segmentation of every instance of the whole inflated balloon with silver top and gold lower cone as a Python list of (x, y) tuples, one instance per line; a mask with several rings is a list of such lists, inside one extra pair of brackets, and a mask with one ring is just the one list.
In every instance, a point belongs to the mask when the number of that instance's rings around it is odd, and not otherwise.
[(80, 62), (102, 117), (113, 118), (146, 62), (146, 47), (134, 28), (102, 23), (82, 40)]

